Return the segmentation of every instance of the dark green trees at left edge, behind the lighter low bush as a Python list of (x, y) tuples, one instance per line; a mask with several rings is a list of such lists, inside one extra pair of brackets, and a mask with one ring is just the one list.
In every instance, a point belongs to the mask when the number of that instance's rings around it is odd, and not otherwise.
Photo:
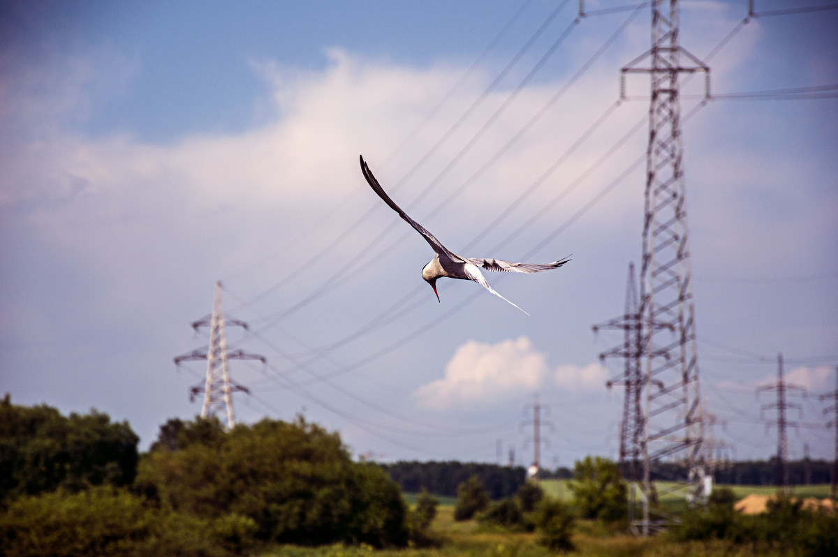
[(106, 414), (70, 414), (39, 405), (0, 401), (0, 501), (64, 487), (130, 485), (137, 474), (139, 438), (127, 422)]

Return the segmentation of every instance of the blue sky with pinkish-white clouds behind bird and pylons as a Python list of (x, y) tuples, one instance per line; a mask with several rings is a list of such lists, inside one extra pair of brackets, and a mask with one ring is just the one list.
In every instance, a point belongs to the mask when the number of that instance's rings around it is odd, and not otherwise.
[[(127, 420), (140, 448), (201, 400), (221, 283), (236, 419), (303, 415), (354, 456), (528, 465), (618, 455), (639, 265), (649, 7), (457, 3), (0, 5), (0, 391)], [(628, 7), (627, 7), (628, 6)], [(817, 8), (826, 6), (826, 9)], [(681, 3), (701, 402), (739, 460), (831, 458), (838, 364), (838, 9)], [(422, 281), (427, 243), (546, 263)], [(640, 161), (639, 164), (635, 162)], [(538, 397), (537, 402), (536, 398)], [(709, 429), (709, 428), (708, 428)]]

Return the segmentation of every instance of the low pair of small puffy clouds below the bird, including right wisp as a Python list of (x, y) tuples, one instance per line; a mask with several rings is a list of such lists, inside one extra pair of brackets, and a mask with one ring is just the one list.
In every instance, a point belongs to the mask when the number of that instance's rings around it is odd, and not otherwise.
[(496, 344), (469, 340), (454, 353), (445, 376), (423, 385), (413, 397), (419, 405), (437, 410), (489, 405), (537, 389), (602, 389), (607, 374), (596, 363), (563, 364), (551, 370), (544, 353), (524, 336)]

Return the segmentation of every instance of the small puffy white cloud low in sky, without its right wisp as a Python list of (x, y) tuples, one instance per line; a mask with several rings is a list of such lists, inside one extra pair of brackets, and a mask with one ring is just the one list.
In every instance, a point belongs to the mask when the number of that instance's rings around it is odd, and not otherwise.
[(445, 367), (445, 377), (413, 393), (428, 408), (443, 409), (496, 403), (532, 392), (547, 374), (544, 354), (529, 338), (497, 344), (464, 343)]

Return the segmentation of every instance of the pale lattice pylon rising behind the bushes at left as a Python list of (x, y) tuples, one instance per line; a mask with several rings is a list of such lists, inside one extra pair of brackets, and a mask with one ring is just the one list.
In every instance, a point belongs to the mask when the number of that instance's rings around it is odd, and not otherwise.
[(228, 350), (225, 325), (235, 325), (247, 329), (246, 322), (225, 319), (224, 311), (221, 308), (221, 283), (216, 282), (215, 300), (209, 320), (204, 318), (192, 323), (192, 328), (196, 331), (200, 327), (209, 327), (208, 349), (205, 352), (200, 349), (193, 350), (191, 353), (178, 356), (174, 358), (174, 364), (180, 365), (182, 362), (198, 359), (207, 361), (207, 374), (203, 385), (199, 384), (190, 389), (189, 400), (194, 400), (195, 395), (203, 392), (204, 406), (201, 408), (201, 417), (207, 418), (209, 415), (217, 415), (227, 429), (232, 429), (235, 427), (232, 393), (234, 390), (246, 393), (250, 391), (230, 380), (230, 368), (227, 361), (230, 359), (255, 359), (264, 364), (266, 359), (263, 356), (244, 353), (241, 350)]

